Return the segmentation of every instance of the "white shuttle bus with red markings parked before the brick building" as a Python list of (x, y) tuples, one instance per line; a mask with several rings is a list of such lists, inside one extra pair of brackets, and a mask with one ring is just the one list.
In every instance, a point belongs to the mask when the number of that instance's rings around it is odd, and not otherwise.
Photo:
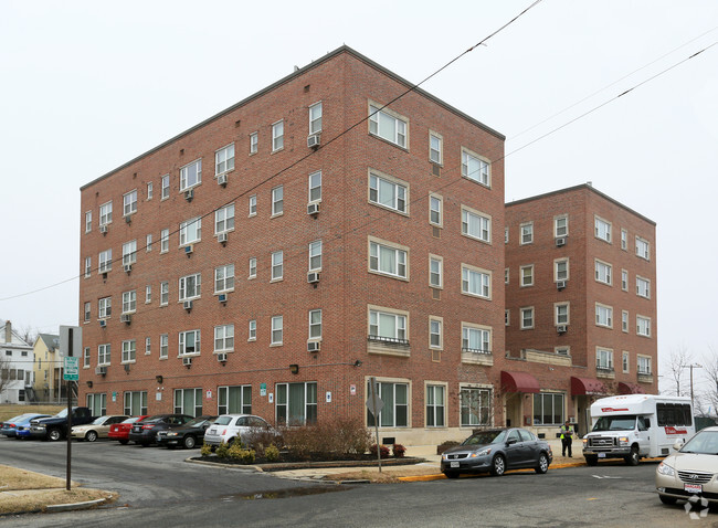
[(690, 398), (626, 394), (596, 400), (591, 405), (591, 432), (583, 436), (583, 456), (593, 466), (600, 458), (666, 456), (676, 441), (696, 433)]

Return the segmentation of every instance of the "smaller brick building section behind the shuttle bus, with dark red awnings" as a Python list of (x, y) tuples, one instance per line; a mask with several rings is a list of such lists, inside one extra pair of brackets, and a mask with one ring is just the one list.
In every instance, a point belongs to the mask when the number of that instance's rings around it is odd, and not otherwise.
[(590, 183), (506, 205), (507, 418), (553, 436), (600, 395), (656, 393), (655, 223)]

